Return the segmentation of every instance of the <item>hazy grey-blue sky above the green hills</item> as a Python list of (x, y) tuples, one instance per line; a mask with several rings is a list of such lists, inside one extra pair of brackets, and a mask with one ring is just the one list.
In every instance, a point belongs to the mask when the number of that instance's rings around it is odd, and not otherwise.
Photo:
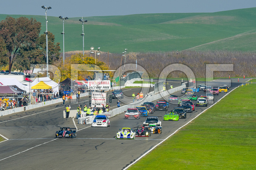
[(0, 14), (89, 17), (150, 13), (217, 12), (256, 7), (256, 0), (1, 0)]

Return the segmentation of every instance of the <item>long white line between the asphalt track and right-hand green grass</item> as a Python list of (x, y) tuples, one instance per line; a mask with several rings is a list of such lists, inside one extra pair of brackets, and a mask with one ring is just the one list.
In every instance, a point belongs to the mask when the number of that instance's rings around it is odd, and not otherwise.
[[(239, 87), (239, 86), (237, 86), (237, 87)], [(236, 88), (237, 88), (236, 87)], [(236, 88), (234, 88), (233, 90), (235, 90)], [(231, 90), (231, 91), (233, 91), (233, 90)], [(231, 92), (230, 91), (230, 92)], [(229, 93), (227, 93), (226, 95), (228, 95), (228, 94), (230, 94), (230, 92)], [(223, 96), (222, 98), (225, 98), (226, 97), (226, 95), (225, 96)], [(222, 98), (220, 98), (216, 103), (218, 103), (219, 101), (221, 101), (222, 100)], [(208, 109), (210, 109), (211, 107), (213, 107), (216, 103), (214, 103), (213, 105), (211, 105), (209, 108), (207, 108), (207, 109), (205, 109), (203, 112), (205, 112), (205, 111), (207, 111)], [(194, 120), (194, 119), (196, 119), (198, 116), (200, 116), (203, 112), (201, 112), (201, 113), (199, 113), (195, 118), (193, 118), (192, 120)], [(190, 123), (192, 120), (190, 120), (188, 123)], [(177, 129), (175, 132), (173, 132), (172, 134), (170, 134), (168, 137), (166, 137), (163, 141), (161, 141), (159, 144), (157, 144), (157, 145), (155, 145), (153, 148), (151, 148), (149, 151), (147, 151), (146, 153), (144, 153), (142, 156), (140, 156), (138, 159), (136, 159), (133, 163), (131, 163), (131, 164), (129, 164), (128, 166), (126, 166), (123, 170), (127, 170), (130, 166), (132, 166), (133, 164), (135, 164), (139, 159), (142, 159), (144, 156), (146, 156), (149, 152), (151, 152), (154, 148), (156, 148), (158, 145), (161, 145), (164, 141), (166, 141), (169, 137), (171, 137), (171, 136), (173, 136), (173, 134), (176, 134), (176, 132), (178, 131), (178, 130), (180, 130), (181, 128), (183, 128), (184, 126), (186, 126), (188, 123), (186, 123), (186, 124), (184, 124), (182, 127), (180, 127), (179, 129)]]

